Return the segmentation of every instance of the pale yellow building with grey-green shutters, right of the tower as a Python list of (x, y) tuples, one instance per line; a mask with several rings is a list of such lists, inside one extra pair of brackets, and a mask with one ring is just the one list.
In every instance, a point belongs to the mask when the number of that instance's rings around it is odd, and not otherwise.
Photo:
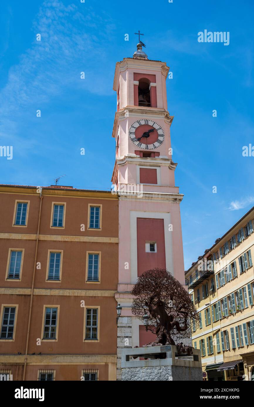
[[(253, 260), (252, 260), (253, 259)], [(206, 380), (254, 380), (254, 207), (185, 272)]]

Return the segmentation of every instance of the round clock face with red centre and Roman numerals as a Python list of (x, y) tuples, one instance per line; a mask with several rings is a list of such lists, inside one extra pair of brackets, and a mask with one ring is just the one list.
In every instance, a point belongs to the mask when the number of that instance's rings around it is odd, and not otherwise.
[(130, 140), (140, 149), (154, 150), (164, 141), (164, 132), (154, 120), (140, 119), (129, 129)]

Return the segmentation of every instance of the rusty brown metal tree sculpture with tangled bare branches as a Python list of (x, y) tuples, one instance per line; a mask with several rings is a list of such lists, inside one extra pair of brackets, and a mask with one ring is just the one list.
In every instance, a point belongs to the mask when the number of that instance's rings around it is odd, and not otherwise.
[(166, 269), (145, 271), (131, 294), (135, 296), (132, 313), (146, 319), (146, 330), (157, 335), (145, 346), (175, 345), (174, 341), (190, 338), (193, 325), (199, 326), (199, 314), (188, 291)]

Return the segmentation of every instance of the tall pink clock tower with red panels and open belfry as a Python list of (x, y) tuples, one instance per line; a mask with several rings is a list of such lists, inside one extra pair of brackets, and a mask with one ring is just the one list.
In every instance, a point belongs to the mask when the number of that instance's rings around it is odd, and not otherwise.
[(180, 202), (175, 186), (167, 107), (165, 62), (149, 60), (137, 44), (133, 58), (117, 62), (113, 89), (117, 112), (113, 193), (119, 196), (119, 282), (115, 299), (118, 320), (117, 379), (121, 380), (121, 348), (155, 339), (131, 313), (130, 291), (141, 274), (166, 268), (185, 285)]

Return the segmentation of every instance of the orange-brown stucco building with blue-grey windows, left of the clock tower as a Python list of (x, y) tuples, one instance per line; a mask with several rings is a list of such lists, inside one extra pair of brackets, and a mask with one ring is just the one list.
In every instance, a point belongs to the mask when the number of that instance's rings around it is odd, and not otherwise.
[(116, 380), (118, 197), (0, 185), (0, 373)]

